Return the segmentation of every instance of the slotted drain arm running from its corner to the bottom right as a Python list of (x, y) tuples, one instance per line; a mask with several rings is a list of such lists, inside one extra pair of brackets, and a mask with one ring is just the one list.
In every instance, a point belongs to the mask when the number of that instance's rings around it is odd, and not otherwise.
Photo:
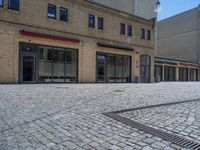
[(126, 124), (128, 126), (131, 126), (133, 128), (139, 129), (139, 130), (149, 133), (151, 135), (162, 138), (163, 140), (169, 141), (173, 144), (179, 145), (183, 148), (200, 150), (200, 143), (192, 142), (190, 140), (187, 140), (187, 139), (177, 136), (175, 134), (166, 133), (159, 129), (154, 129), (152, 127), (143, 125), (141, 123), (130, 120), (128, 118), (122, 117), (116, 113), (110, 112), (110, 113), (104, 113), (103, 115), (110, 117), (116, 121), (119, 121), (123, 124)]

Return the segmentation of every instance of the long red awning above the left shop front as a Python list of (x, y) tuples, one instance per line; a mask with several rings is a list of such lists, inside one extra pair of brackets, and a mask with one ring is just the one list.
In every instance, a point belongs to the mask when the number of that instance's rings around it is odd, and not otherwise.
[(43, 38), (43, 39), (49, 39), (49, 40), (57, 40), (57, 41), (64, 41), (64, 42), (71, 42), (71, 43), (80, 43), (80, 40), (77, 40), (77, 39), (70, 39), (70, 38), (65, 38), (65, 37), (60, 37), (60, 36), (28, 32), (28, 31), (24, 31), (24, 30), (20, 31), (20, 34), (24, 35), (24, 36), (37, 37), (37, 38)]

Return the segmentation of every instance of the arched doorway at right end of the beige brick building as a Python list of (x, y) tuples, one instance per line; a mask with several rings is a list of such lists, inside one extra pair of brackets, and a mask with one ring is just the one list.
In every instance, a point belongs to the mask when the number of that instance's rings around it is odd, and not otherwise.
[(140, 56), (140, 77), (142, 83), (150, 82), (151, 57), (149, 55)]

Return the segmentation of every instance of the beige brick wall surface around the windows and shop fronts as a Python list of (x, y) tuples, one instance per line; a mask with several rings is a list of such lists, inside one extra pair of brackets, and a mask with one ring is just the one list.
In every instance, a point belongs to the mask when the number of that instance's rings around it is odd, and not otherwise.
[[(69, 22), (62, 22), (47, 17), (47, 4), (55, 4), (69, 9)], [(19, 42), (36, 43), (65, 48), (75, 48), (79, 51), (79, 82), (96, 81), (96, 52), (107, 52), (132, 56), (132, 79), (139, 75), (139, 56), (148, 53), (154, 57), (154, 34), (151, 41), (140, 39), (140, 28), (152, 31), (152, 22), (137, 17), (119, 14), (83, 1), (53, 1), (44, 0), (20, 1), (20, 11), (7, 9), (7, 0), (4, 8), (0, 8), (0, 83), (19, 82)], [(27, 7), (29, 6), (29, 7)], [(105, 9), (105, 10), (104, 10)], [(36, 13), (37, 12), (37, 13)], [(105, 30), (88, 28), (88, 14), (104, 17)], [(59, 16), (59, 14), (57, 14)], [(33, 21), (34, 20), (34, 21)], [(133, 25), (133, 37), (122, 36), (119, 33), (121, 22)], [(20, 31), (44, 33), (55, 36), (80, 39), (80, 43), (68, 43), (20, 35)], [(152, 31), (153, 32), (153, 31)], [(131, 46), (138, 52), (100, 48), (97, 42), (120, 43)], [(152, 61), (153, 62), (153, 61)], [(152, 75), (153, 81), (153, 75)]]

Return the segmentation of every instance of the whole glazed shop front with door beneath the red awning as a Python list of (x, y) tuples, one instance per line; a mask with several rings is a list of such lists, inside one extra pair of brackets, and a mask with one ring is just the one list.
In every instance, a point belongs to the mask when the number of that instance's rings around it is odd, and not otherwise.
[(78, 82), (78, 51), (20, 43), (20, 83)]

